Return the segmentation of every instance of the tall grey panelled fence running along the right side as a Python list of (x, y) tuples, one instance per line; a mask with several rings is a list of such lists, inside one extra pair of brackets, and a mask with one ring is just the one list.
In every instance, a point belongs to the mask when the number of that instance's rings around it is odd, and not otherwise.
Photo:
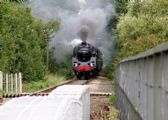
[(116, 79), (121, 120), (168, 120), (168, 43), (123, 60)]

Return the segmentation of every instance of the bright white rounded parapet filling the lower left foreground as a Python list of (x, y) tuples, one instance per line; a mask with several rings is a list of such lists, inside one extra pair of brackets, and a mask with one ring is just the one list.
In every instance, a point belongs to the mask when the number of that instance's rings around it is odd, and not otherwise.
[(0, 106), (2, 120), (90, 120), (87, 85), (65, 85), (48, 96), (25, 96)]

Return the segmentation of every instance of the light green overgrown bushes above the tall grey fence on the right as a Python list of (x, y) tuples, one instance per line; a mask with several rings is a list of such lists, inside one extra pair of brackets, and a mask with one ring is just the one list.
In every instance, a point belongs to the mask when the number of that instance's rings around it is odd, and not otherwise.
[(118, 54), (107, 72), (114, 79), (116, 65), (168, 40), (168, 1), (119, 1), (116, 39)]

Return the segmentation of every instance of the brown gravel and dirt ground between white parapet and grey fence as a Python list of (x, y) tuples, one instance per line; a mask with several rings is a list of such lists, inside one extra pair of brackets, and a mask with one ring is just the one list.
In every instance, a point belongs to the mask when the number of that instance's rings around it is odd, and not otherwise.
[[(91, 92), (112, 93), (112, 82), (98, 77), (88, 82)], [(91, 120), (118, 120), (118, 111), (110, 104), (107, 96), (91, 96)]]

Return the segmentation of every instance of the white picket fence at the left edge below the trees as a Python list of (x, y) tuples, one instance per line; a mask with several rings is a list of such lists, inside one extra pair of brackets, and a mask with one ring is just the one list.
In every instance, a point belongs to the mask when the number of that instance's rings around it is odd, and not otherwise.
[(22, 74), (3, 73), (0, 71), (0, 90), (9, 93), (22, 92)]

